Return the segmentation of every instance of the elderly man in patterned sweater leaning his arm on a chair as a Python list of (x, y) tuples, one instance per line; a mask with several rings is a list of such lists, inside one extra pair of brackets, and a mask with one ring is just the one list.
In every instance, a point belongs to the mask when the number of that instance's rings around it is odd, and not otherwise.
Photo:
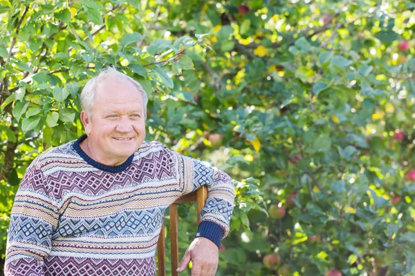
[(145, 139), (147, 95), (107, 68), (81, 95), (86, 135), (46, 150), (15, 197), (6, 275), (156, 275), (165, 209), (202, 185), (208, 201), (178, 268), (214, 275), (228, 235), (234, 186), (228, 175)]

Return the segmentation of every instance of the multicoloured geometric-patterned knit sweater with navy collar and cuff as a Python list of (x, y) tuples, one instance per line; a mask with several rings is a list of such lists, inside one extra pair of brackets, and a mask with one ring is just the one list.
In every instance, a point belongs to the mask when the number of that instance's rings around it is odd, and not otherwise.
[(10, 217), (6, 276), (156, 275), (165, 209), (202, 185), (208, 201), (196, 236), (220, 246), (234, 206), (228, 175), (157, 141), (105, 166), (82, 151), (85, 138), (43, 152), (26, 170)]

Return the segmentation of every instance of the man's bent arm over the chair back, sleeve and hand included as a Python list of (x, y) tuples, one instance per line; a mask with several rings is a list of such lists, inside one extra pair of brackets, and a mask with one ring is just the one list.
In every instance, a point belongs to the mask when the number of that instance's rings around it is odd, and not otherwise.
[(184, 194), (203, 185), (208, 187), (208, 199), (201, 211), (196, 239), (187, 248), (178, 272), (183, 272), (192, 260), (192, 275), (214, 275), (221, 239), (229, 233), (234, 208), (234, 184), (225, 172), (205, 162), (177, 155), (181, 164)]

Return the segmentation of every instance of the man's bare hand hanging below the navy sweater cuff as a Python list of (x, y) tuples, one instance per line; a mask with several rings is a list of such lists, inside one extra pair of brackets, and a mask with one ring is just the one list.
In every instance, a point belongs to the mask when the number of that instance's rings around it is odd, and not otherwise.
[(210, 239), (196, 237), (178, 266), (177, 272), (185, 271), (192, 261), (192, 276), (214, 276), (218, 269), (219, 249)]

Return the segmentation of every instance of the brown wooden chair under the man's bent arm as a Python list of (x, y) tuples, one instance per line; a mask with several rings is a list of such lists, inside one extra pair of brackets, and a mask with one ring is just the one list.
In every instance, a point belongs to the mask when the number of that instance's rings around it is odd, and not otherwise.
[[(177, 230), (177, 204), (196, 201), (197, 210), (197, 224), (201, 222), (201, 210), (205, 206), (206, 199), (208, 199), (208, 188), (202, 186), (195, 192), (185, 195), (174, 201), (170, 205), (170, 243), (172, 245), (172, 276), (177, 276), (176, 269), (178, 268), (178, 230)], [(158, 276), (166, 276), (166, 259), (165, 259), (165, 231), (164, 221), (158, 237), (157, 244), (158, 257)]]

